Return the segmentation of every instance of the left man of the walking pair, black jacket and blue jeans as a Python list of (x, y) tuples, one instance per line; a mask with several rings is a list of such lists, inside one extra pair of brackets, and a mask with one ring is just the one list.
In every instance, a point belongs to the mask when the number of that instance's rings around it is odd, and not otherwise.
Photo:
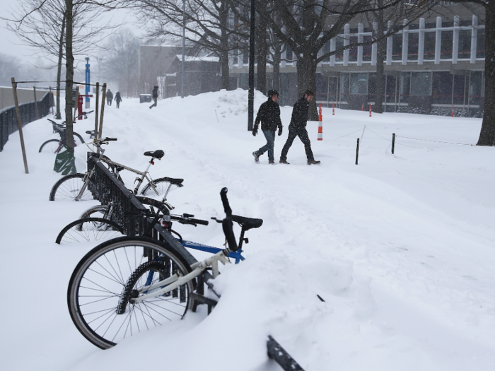
[(268, 100), (260, 105), (260, 110), (256, 115), (255, 127), (252, 129), (252, 135), (258, 133), (258, 125), (261, 122), (261, 129), (264, 137), (267, 139), (267, 144), (259, 150), (252, 153), (255, 157), (255, 163), (260, 163), (260, 155), (268, 151), (268, 163), (274, 164), (273, 148), (275, 145), (275, 131), (279, 128), (279, 136), (282, 135), (282, 122), (280, 119), (280, 106), (276, 100), (279, 98), (279, 93), (276, 90), (269, 90)]

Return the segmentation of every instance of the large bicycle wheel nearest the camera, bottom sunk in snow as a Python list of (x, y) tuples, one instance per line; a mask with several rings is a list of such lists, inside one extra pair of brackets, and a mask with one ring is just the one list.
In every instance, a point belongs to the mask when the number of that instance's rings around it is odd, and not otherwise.
[(176, 294), (136, 304), (129, 300), (138, 297), (136, 290), (145, 283), (190, 271), (180, 254), (162, 242), (147, 237), (103, 242), (88, 252), (72, 273), (67, 290), (71, 319), (88, 341), (102, 349), (138, 332), (182, 319), (192, 309), (190, 295), (195, 280), (180, 286)]

